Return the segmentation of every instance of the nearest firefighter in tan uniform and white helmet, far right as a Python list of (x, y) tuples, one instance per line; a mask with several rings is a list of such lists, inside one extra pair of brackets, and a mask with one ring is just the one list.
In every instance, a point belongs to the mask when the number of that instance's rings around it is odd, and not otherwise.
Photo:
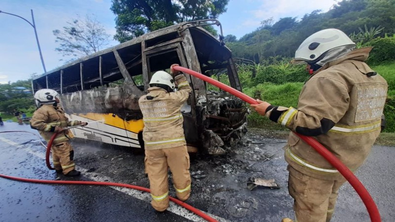
[[(365, 63), (370, 51), (370, 47), (355, 49), (355, 43), (340, 30), (316, 32), (303, 41), (293, 60), (294, 64), (307, 63), (311, 74), (297, 109), (262, 101), (252, 107), (292, 131), (315, 137), (355, 172), (380, 134), (387, 97), (386, 80)], [(295, 220), (329, 222), (346, 179), (292, 132), (285, 159)]]

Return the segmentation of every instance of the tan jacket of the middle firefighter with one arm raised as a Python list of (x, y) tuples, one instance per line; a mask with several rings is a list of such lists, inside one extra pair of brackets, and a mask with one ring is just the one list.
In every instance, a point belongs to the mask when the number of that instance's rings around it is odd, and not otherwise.
[(146, 150), (166, 149), (186, 145), (181, 107), (192, 92), (184, 75), (177, 75), (177, 92), (167, 92), (160, 87), (150, 87), (141, 96), (139, 106), (143, 113), (143, 140)]

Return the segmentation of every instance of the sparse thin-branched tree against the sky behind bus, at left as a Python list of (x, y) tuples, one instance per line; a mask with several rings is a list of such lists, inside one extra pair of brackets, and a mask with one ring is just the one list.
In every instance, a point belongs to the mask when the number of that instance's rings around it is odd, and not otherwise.
[(55, 50), (62, 56), (71, 56), (73, 60), (96, 53), (109, 44), (110, 35), (96, 17), (78, 17), (67, 24), (69, 26), (64, 26), (62, 30), (53, 31), (56, 42), (60, 44)]

